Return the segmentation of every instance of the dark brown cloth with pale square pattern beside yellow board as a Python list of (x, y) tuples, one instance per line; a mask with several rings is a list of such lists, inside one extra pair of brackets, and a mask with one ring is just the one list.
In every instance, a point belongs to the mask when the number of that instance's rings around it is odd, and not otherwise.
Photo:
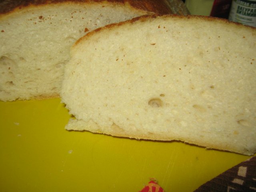
[(256, 156), (206, 182), (194, 192), (256, 192)]

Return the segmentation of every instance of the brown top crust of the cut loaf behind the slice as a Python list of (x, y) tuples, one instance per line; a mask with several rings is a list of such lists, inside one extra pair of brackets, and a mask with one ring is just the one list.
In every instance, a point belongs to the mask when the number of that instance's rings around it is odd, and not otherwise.
[[(8, 12), (13, 12), (18, 9), (29, 6), (39, 6), (46, 4), (59, 4), (59, 3), (96, 3), (96, 2), (109, 2), (116, 4), (130, 4), (130, 6), (144, 10), (146, 12), (152, 12), (155, 14), (189, 14), (186, 6), (184, 6), (182, 0), (173, 0), (174, 3), (170, 3), (166, 0), (4, 0), (0, 2), (0, 15)], [(174, 12), (174, 7), (175, 12)]]

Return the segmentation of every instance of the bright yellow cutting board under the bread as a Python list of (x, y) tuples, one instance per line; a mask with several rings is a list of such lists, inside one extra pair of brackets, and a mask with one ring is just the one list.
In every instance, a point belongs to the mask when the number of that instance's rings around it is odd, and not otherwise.
[(192, 192), (249, 156), (64, 129), (60, 99), (0, 102), (1, 192)]

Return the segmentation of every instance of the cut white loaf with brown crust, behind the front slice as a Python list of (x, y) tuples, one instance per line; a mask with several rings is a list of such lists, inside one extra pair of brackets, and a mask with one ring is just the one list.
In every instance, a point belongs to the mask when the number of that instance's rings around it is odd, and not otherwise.
[(144, 14), (187, 14), (181, 0), (0, 2), (0, 100), (57, 97), (70, 46), (88, 31)]

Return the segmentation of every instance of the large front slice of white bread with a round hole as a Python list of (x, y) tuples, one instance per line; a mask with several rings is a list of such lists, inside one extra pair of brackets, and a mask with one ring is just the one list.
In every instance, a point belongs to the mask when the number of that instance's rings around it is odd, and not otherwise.
[(67, 130), (256, 152), (256, 29), (141, 16), (80, 38), (61, 90)]

